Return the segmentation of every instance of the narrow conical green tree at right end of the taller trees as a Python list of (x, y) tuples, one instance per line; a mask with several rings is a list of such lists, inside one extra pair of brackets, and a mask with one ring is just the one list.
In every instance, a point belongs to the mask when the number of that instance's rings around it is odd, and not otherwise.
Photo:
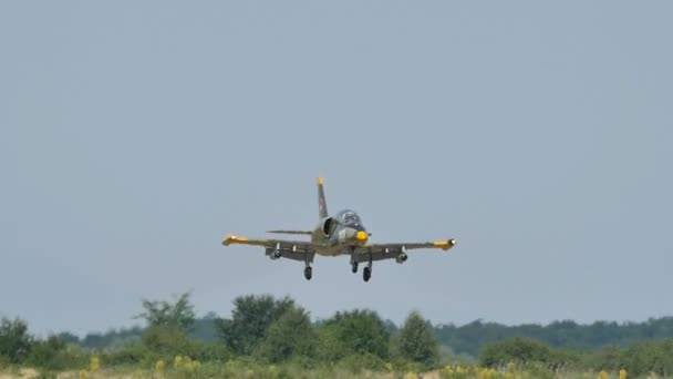
[(439, 344), (433, 334), (433, 326), (421, 314), (413, 311), (400, 329), (398, 352), (402, 358), (429, 367), (437, 361)]

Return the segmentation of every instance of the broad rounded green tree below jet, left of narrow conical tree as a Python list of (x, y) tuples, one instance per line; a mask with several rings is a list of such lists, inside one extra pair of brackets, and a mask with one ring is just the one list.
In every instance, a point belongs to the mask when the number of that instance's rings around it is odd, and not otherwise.
[(320, 326), (319, 352), (329, 361), (365, 354), (387, 359), (390, 338), (385, 322), (375, 311), (339, 311)]

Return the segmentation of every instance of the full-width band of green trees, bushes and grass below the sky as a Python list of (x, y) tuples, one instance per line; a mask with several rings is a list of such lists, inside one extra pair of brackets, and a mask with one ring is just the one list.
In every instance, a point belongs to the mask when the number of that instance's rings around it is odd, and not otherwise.
[[(673, 372), (673, 339), (661, 338), (667, 337), (661, 330), (673, 330), (663, 327), (671, 319), (622, 326), (563, 321), (548, 327), (504, 327), (473, 322), (456, 328), (433, 326), (414, 311), (397, 328), (369, 309), (339, 311), (312, 322), (309, 311), (291, 298), (269, 295), (236, 298), (229, 318), (213, 314), (196, 318), (189, 294), (174, 301), (144, 300), (142, 307), (137, 318), (144, 320), (144, 327), (83, 339), (71, 334), (38, 339), (29, 334), (23, 320), (2, 318), (0, 366), (30, 366), (44, 372), (83, 370), (84, 375), (100, 367), (126, 368), (166, 371), (168, 377), (194, 377), (195, 372), (236, 377), (236, 372), (250, 371), (257, 372), (252, 377), (265, 378), (296, 377), (298, 372), (323, 377), (334, 372), (426, 370), (446, 378), (505, 378), (514, 368), (520, 377), (624, 369), (631, 377)], [(596, 331), (592, 328), (601, 330), (593, 335), (597, 340), (611, 340), (612, 330), (619, 336), (612, 340), (620, 342), (600, 348), (578, 344), (589, 341), (582, 332)], [(524, 330), (547, 338), (519, 336), (525, 335)], [(480, 344), (477, 351), (459, 342), (468, 336)], [(447, 344), (447, 338), (457, 345)], [(467, 350), (474, 358), (466, 355)]]

